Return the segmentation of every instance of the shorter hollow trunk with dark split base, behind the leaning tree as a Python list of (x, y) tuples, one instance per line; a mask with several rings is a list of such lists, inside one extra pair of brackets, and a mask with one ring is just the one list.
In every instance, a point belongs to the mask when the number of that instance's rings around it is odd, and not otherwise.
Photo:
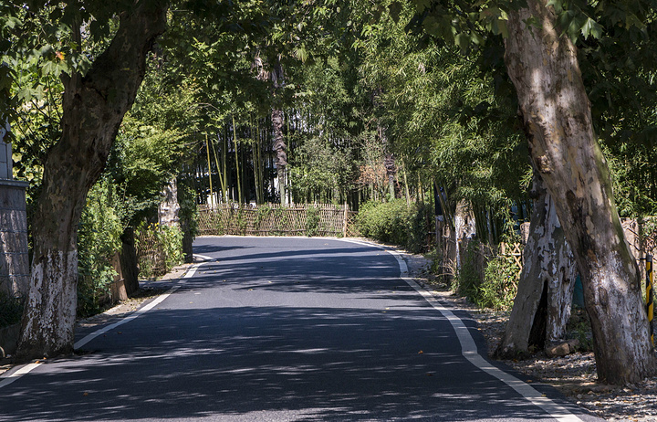
[(495, 351), (500, 358), (524, 356), (530, 346), (543, 348), (563, 339), (570, 316), (576, 266), (554, 203), (537, 174), (531, 195), (534, 211), (525, 266), (504, 338)]

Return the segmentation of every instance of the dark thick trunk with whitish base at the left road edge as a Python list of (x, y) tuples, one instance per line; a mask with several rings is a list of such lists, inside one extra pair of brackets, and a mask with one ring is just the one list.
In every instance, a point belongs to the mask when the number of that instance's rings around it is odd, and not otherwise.
[(47, 155), (33, 221), (34, 258), (18, 349), (21, 359), (73, 350), (78, 284), (78, 221), (123, 115), (144, 77), (146, 54), (166, 25), (164, 2), (120, 14), (107, 50), (86, 76), (64, 80), (62, 137)]

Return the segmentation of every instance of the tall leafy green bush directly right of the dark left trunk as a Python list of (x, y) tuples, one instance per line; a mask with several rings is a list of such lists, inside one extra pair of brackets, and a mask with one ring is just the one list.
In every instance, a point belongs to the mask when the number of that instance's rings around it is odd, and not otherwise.
[(110, 294), (117, 272), (112, 258), (120, 252), (123, 226), (112, 201), (115, 188), (95, 185), (87, 196), (78, 227), (78, 315), (98, 313)]

